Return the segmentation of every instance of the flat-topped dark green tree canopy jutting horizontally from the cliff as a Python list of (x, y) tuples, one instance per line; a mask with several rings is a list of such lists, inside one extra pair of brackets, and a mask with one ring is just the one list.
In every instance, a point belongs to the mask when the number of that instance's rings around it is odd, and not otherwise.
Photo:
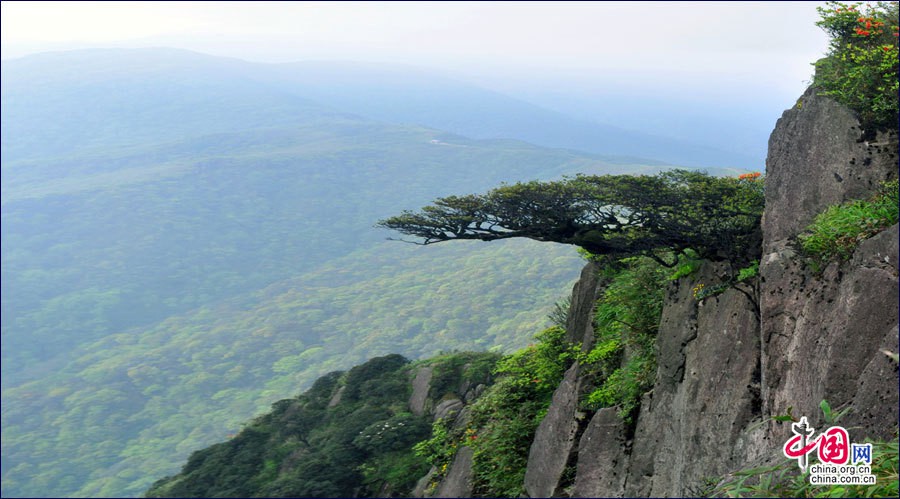
[(526, 237), (597, 255), (656, 256), (691, 248), (713, 260), (752, 259), (763, 208), (762, 180), (671, 170), (658, 175), (578, 175), (448, 196), (377, 226), (433, 244)]

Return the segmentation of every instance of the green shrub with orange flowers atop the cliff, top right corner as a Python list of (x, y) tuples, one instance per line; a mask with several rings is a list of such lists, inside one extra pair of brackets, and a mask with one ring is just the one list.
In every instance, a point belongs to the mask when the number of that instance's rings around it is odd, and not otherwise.
[(859, 114), (863, 128), (897, 127), (897, 2), (818, 7), (817, 26), (831, 37), (815, 63), (813, 85)]

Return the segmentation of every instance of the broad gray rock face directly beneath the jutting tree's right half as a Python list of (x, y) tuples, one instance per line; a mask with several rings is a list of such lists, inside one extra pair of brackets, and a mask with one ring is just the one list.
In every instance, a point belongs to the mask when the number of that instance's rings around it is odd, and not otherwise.
[(698, 303), (696, 282), (719, 282), (705, 263), (670, 290), (659, 329), (660, 360), (634, 435), (626, 496), (691, 496), (741, 459), (742, 430), (759, 415), (755, 307), (728, 290)]

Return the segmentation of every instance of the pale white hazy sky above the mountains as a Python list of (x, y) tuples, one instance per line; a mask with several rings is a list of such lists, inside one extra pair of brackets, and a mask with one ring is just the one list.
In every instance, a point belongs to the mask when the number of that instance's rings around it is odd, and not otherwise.
[(175, 46), (255, 61), (404, 62), (497, 76), (634, 71), (796, 83), (815, 2), (2, 2), (3, 58)]

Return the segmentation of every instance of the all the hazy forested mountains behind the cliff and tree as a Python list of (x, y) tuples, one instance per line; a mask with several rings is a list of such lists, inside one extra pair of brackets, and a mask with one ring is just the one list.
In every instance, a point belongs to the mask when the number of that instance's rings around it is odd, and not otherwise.
[(138, 494), (327, 371), (521, 346), (577, 277), (572, 248), (409, 247), (380, 218), (759, 164), (397, 66), (86, 50), (0, 88), (4, 496)]

